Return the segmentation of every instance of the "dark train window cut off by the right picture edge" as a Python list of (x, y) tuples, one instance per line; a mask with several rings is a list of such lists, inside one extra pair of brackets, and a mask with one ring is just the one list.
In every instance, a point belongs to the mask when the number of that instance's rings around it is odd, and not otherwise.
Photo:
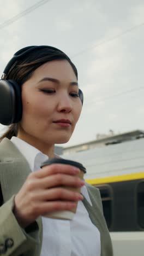
[(144, 182), (140, 182), (137, 186), (137, 211), (138, 223), (144, 228)]

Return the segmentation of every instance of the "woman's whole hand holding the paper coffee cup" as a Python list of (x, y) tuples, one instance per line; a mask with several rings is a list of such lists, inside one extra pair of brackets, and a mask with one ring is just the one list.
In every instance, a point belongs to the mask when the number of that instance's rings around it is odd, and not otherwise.
[(36, 218), (53, 211), (71, 210), (82, 200), (80, 193), (64, 187), (82, 187), (77, 177), (80, 170), (74, 166), (52, 164), (32, 172), (15, 196), (14, 214), (17, 222), (26, 228)]

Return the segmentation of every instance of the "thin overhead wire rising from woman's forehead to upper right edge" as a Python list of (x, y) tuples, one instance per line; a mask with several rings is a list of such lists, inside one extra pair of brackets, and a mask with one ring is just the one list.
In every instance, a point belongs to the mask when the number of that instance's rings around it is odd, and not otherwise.
[(127, 30), (123, 30), (121, 33), (116, 34), (115, 36), (113, 36), (113, 37), (111, 37), (111, 38), (107, 38), (107, 39), (101, 41), (100, 43), (93, 44), (93, 45), (87, 47), (86, 49), (83, 49), (82, 51), (79, 51), (79, 53), (76, 53), (76, 54), (74, 54), (74, 55), (71, 56), (71, 57), (75, 58), (75, 57), (77, 57), (77, 56), (79, 56), (79, 55), (81, 55), (81, 54), (86, 53), (86, 52), (89, 51), (89, 50), (92, 50), (92, 49), (94, 49), (94, 48), (98, 48), (98, 47), (101, 46), (101, 45), (104, 45), (104, 44), (107, 44), (107, 43), (109, 43), (109, 42), (112, 42), (113, 40), (115, 40), (115, 39), (117, 39), (117, 38), (119, 38), (119, 37), (122, 37), (124, 34), (128, 34), (128, 33), (130, 33), (131, 31), (136, 30), (138, 27), (142, 27), (143, 25), (144, 25), (144, 22), (142, 22), (142, 23), (140, 23), (140, 24), (137, 24), (137, 25), (135, 25), (135, 26), (133, 26), (133, 27), (130, 27), (130, 28), (128, 28)]

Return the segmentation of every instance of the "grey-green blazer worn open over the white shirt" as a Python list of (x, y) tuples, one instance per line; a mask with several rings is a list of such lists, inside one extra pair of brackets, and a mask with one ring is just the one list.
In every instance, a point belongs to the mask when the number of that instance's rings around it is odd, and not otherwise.
[[(9, 139), (4, 138), (0, 143), (0, 183), (1, 197), (3, 196), (3, 205), (0, 207), (0, 255), (40, 256), (43, 237), (41, 217), (26, 229), (22, 229), (13, 214), (14, 196), (29, 173), (31, 170), (26, 159)], [(92, 223), (100, 231), (101, 256), (112, 256), (112, 244), (99, 190), (88, 184), (87, 190), (93, 206), (86, 199), (83, 204)]]

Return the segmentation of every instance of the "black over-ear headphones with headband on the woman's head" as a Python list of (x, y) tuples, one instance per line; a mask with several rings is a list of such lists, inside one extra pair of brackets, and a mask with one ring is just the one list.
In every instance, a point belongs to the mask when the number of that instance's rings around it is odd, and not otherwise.
[[(21, 86), (14, 80), (6, 80), (10, 68), (14, 65), (16, 60), (22, 59), (23, 56), (36, 48), (49, 48), (53, 50), (59, 49), (48, 46), (27, 46), (17, 51), (13, 58), (8, 62), (4, 69), (2, 79), (0, 80), (0, 123), (3, 125), (10, 125), (18, 123), (22, 117), (22, 100), (21, 100)], [(83, 104), (83, 92), (79, 89), (79, 97)]]

